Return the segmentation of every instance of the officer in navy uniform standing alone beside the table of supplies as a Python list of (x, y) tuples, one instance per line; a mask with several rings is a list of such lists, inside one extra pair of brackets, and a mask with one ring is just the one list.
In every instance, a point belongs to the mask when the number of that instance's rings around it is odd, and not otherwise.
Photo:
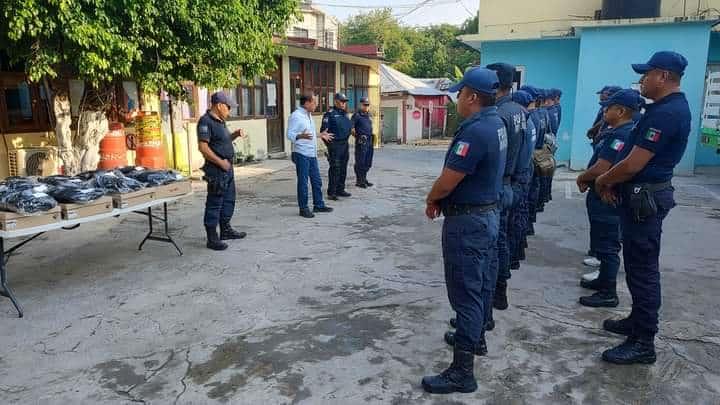
[[(235, 149), (233, 140), (244, 137), (242, 129), (230, 133), (225, 120), (230, 111), (237, 106), (231, 103), (225, 93), (219, 91), (210, 97), (210, 110), (205, 113), (197, 124), (198, 149), (205, 158), (202, 167), (208, 183), (208, 194), (205, 202), (205, 230), (207, 247), (212, 250), (225, 250), (227, 244), (223, 240), (242, 239), (245, 232), (238, 232), (230, 226), (235, 212), (235, 176), (233, 159)], [(220, 224), (220, 235), (217, 227)]]

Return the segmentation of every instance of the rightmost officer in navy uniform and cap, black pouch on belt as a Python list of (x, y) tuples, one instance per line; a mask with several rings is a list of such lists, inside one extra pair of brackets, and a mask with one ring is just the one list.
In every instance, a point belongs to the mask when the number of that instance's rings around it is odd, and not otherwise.
[(603, 200), (621, 201), (623, 259), (633, 301), (629, 317), (603, 323), (605, 330), (628, 336), (603, 353), (603, 360), (616, 364), (655, 362), (660, 234), (675, 206), (670, 181), (685, 153), (691, 123), (690, 107), (680, 90), (687, 67), (684, 56), (657, 52), (647, 63), (632, 67), (642, 75), (642, 95), (653, 103), (632, 130), (620, 162), (595, 180)]

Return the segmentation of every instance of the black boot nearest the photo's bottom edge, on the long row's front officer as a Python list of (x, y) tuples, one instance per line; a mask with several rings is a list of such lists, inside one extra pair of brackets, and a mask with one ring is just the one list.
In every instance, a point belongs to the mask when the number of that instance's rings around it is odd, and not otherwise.
[(442, 373), (423, 377), (423, 389), (431, 394), (470, 393), (477, 390), (473, 373), (475, 355), (459, 348), (453, 351), (453, 362)]

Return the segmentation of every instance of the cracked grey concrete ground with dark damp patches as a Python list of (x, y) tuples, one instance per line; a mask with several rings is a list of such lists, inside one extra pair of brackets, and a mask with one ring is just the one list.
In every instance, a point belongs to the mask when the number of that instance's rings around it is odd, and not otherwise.
[(0, 403), (720, 403), (720, 177), (675, 180), (658, 362), (620, 367), (600, 361), (621, 339), (599, 326), (630, 297), (621, 281), (617, 309), (577, 304), (588, 227), (563, 171), (477, 359), (479, 390), (425, 394), (422, 376), (451, 358), (441, 221), (423, 217), (443, 154), (378, 151), (377, 186), (312, 220), (288, 161), (242, 168), (234, 222), (249, 236), (222, 253), (204, 247), (200, 185), (171, 208), (183, 257), (138, 252), (142, 217), (43, 236), (9, 263), (26, 317), (0, 299)]

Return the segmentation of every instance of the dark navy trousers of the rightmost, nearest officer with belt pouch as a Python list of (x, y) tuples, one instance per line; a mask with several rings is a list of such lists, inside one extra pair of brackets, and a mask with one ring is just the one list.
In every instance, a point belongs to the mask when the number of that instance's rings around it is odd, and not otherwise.
[(627, 203), (622, 206), (623, 260), (633, 305), (633, 334), (653, 337), (658, 331), (660, 295), (660, 235), (662, 222), (675, 206), (673, 189), (655, 192), (657, 214), (641, 222), (633, 220)]

